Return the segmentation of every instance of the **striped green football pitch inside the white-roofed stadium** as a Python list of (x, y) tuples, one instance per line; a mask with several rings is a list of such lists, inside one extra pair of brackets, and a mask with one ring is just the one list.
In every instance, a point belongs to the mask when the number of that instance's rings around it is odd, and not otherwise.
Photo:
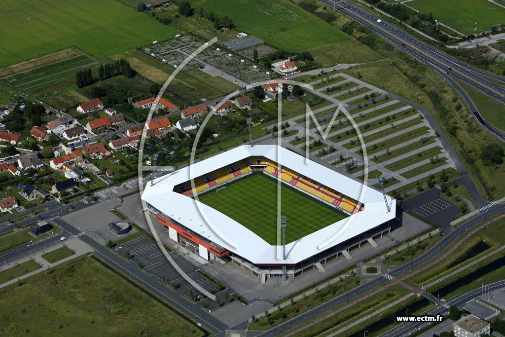
[[(227, 215), (277, 245), (277, 180), (254, 173), (199, 196), (200, 202)], [(286, 184), (281, 184), (281, 215), (287, 217), (286, 243), (324, 228), (348, 215)], [(280, 231), (279, 231), (280, 232)]]

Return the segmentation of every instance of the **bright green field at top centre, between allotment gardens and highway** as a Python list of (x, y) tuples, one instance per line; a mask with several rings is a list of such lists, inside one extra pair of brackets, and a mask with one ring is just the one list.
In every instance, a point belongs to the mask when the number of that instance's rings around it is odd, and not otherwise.
[(287, 51), (350, 41), (345, 33), (286, 0), (209, 0), (204, 9), (229, 16), (237, 30)]

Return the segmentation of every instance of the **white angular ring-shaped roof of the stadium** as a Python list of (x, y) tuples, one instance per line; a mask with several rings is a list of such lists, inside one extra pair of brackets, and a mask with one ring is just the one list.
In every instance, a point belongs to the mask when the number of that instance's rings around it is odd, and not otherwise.
[[(255, 264), (280, 264), (282, 246), (272, 246), (260, 236), (217, 210), (174, 192), (174, 186), (250, 156), (263, 156), (308, 176), (363, 203), (364, 210), (286, 244), (286, 264), (295, 264), (345, 242), (395, 217), (395, 200), (305, 157), (276, 145), (241, 146), (189, 167), (171, 172), (147, 184), (142, 200), (191, 231)], [(280, 179), (280, 178), (279, 178)], [(289, 230), (289, 221), (288, 221)], [(280, 254), (279, 254), (280, 252)]]

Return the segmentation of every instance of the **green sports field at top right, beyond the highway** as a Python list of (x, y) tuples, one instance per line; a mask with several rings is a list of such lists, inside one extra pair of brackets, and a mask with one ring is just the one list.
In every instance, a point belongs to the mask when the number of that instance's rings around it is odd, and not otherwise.
[(433, 18), (465, 35), (475, 32), (475, 21), (477, 32), (505, 24), (505, 9), (488, 0), (415, 0), (407, 5), (426, 14), (431, 12)]

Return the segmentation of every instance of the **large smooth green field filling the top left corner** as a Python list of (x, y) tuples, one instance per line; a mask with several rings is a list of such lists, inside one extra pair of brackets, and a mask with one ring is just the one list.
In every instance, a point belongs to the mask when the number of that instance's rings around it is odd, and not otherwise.
[(0, 67), (74, 45), (102, 58), (177, 34), (114, 0), (4, 0), (0, 21)]

